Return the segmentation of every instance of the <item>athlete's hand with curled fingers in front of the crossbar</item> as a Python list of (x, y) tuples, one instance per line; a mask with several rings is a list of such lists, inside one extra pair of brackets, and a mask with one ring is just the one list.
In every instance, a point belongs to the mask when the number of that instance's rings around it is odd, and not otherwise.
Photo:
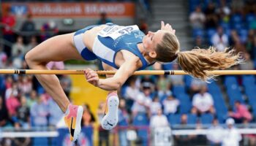
[(84, 75), (86, 77), (87, 82), (95, 87), (99, 86), (99, 77), (98, 74), (92, 69), (85, 69), (83, 70)]

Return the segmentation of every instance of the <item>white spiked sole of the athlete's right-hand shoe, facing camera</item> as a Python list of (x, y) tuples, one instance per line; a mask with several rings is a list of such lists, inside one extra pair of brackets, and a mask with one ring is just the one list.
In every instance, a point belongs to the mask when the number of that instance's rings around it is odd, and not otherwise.
[(108, 113), (102, 119), (102, 128), (110, 130), (118, 123), (118, 104), (119, 99), (116, 96), (108, 98)]

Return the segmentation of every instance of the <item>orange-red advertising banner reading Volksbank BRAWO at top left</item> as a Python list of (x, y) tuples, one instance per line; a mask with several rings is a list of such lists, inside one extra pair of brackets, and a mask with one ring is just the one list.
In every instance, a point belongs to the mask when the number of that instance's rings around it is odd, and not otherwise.
[(106, 12), (110, 17), (133, 18), (135, 16), (135, 4), (132, 2), (111, 2), (111, 3), (89, 3), (89, 2), (61, 2), (61, 3), (11, 3), (1, 4), (3, 15), (6, 9), (11, 9), (16, 16), (26, 14), (34, 18), (89, 18), (99, 16), (99, 13)]

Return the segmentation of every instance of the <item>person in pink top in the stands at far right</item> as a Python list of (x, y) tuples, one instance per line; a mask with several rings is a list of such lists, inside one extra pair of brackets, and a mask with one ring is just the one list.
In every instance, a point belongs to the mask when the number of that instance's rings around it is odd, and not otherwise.
[(234, 118), (236, 123), (242, 123), (243, 120), (252, 120), (252, 114), (244, 104), (241, 104), (240, 101), (235, 101), (235, 111), (236, 112), (228, 112), (228, 115)]

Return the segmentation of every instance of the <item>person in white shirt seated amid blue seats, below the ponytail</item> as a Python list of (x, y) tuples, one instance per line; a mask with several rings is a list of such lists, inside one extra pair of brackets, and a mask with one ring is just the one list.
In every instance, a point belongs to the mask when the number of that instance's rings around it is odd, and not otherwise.
[(210, 93), (207, 93), (207, 86), (203, 85), (201, 87), (200, 93), (195, 94), (192, 99), (192, 114), (202, 114), (210, 112), (215, 113), (214, 110), (214, 100)]

